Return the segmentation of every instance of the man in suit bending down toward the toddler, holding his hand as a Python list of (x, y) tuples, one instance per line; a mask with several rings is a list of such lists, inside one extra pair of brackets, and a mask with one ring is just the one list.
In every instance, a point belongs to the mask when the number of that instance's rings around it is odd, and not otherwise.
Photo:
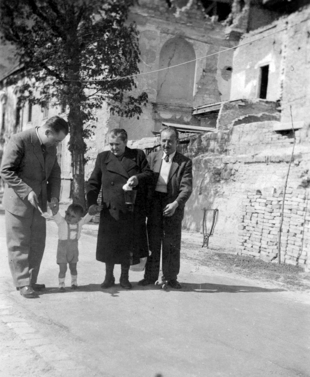
[(69, 132), (67, 122), (53, 116), (42, 127), (11, 136), (2, 158), (0, 174), (5, 182), (8, 260), (14, 285), (23, 297), (37, 297), (37, 284), (46, 236), (47, 200), (58, 209), (60, 167), (56, 147)]

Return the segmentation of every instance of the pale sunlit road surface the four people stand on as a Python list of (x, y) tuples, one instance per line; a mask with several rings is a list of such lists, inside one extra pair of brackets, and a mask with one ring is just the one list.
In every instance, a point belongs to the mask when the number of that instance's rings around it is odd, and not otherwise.
[(101, 290), (95, 244), (82, 234), (79, 290), (58, 293), (57, 227), (47, 222), (38, 281), (47, 289), (24, 299), (11, 284), (0, 215), (1, 376), (310, 376), (307, 302), (185, 262), (182, 290), (139, 287), (134, 272), (132, 290)]

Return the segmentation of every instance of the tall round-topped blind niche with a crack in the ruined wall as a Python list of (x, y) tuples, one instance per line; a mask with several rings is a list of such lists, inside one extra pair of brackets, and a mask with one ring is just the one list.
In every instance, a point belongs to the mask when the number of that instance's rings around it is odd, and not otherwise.
[[(159, 55), (159, 69), (196, 58), (191, 43), (183, 38), (172, 38), (162, 46)], [(157, 98), (159, 103), (191, 104), (193, 101), (195, 61), (179, 67), (158, 72)]]

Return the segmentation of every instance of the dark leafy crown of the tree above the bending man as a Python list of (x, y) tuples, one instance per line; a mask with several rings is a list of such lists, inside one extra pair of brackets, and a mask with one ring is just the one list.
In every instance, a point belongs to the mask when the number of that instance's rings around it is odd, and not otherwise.
[[(0, 31), (16, 46), (20, 69), (7, 84), (20, 84), (20, 104), (69, 106), (69, 150), (78, 174), (84, 139), (96, 110), (107, 102), (120, 116), (140, 115), (147, 94), (128, 95), (139, 73), (138, 32), (126, 22), (135, 0), (2, 0)], [(93, 122), (94, 124), (94, 122)], [(74, 158), (74, 153), (76, 158)], [(73, 169), (74, 175), (74, 169)], [(80, 177), (81, 178), (81, 177)], [(75, 177), (73, 176), (73, 179)], [(82, 188), (80, 188), (81, 195)]]

